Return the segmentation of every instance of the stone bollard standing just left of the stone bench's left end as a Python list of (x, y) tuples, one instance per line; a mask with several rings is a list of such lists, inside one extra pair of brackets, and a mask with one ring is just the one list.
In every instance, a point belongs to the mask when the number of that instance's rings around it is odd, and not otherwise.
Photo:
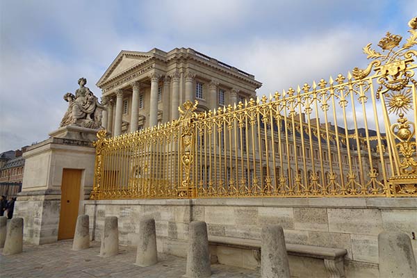
[(188, 253), (186, 277), (211, 276), (210, 254), (206, 222), (193, 221), (188, 226)]

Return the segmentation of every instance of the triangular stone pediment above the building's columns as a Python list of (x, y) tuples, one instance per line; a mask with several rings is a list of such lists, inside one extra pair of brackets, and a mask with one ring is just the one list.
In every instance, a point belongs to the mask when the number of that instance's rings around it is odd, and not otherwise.
[(138, 51), (121, 51), (119, 55), (115, 58), (113, 63), (111, 63), (110, 67), (104, 72), (103, 76), (97, 82), (97, 86), (100, 85), (113, 77), (129, 70), (131, 67), (134, 67), (144, 60), (152, 57), (152, 54), (148, 54), (146, 52), (138, 52)]

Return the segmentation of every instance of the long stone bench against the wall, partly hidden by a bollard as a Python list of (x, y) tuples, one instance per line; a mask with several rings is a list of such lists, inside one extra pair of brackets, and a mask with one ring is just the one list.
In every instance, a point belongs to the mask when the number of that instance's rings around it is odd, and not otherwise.
[[(252, 250), (252, 254), (257, 263), (256, 268), (259, 268), (261, 265), (261, 240), (208, 236), (208, 245), (211, 246), (211, 250), (216, 246)], [(324, 260), (325, 268), (331, 278), (345, 277), (343, 267), (343, 257), (347, 254), (345, 249), (291, 243), (286, 243), (286, 249), (288, 255)], [(214, 263), (216, 261), (218, 261), (218, 258), (214, 256), (212, 262)]]

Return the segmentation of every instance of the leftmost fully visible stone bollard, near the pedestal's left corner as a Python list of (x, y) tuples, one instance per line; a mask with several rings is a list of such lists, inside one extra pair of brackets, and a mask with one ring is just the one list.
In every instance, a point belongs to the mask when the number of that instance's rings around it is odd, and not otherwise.
[(23, 218), (12, 218), (7, 227), (6, 242), (3, 255), (22, 253), (23, 250)]

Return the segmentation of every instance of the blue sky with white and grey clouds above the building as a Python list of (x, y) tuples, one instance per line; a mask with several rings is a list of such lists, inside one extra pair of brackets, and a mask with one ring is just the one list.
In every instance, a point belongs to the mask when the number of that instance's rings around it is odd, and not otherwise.
[(362, 47), (407, 35), (417, 0), (0, 1), (0, 153), (48, 138), (83, 76), (121, 50), (190, 47), (254, 74), (257, 95), (366, 67)]

